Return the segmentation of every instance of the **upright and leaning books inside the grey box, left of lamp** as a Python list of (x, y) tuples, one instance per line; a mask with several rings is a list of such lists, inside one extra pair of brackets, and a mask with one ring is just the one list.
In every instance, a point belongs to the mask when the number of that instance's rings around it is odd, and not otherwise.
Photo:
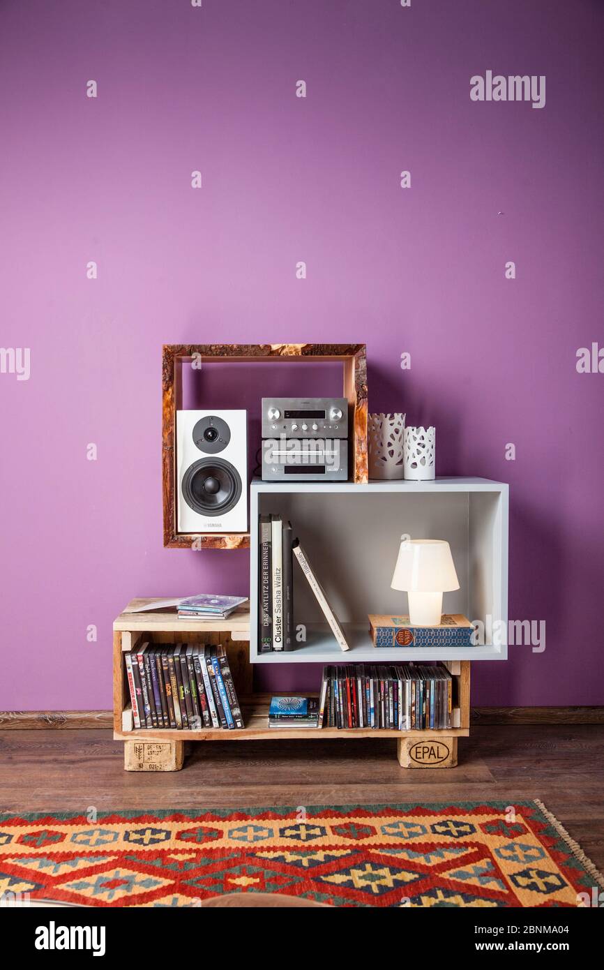
[(258, 577), (258, 642), (261, 654), (273, 650), (294, 650), (294, 569), (296, 559), (302, 568), (323, 615), (341, 650), (349, 650), (325, 590), (297, 538), (291, 522), (280, 515), (260, 516), (260, 574)]

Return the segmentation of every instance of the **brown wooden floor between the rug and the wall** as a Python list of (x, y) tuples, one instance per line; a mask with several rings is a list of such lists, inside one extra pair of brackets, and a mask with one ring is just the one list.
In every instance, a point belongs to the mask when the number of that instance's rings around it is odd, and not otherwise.
[(123, 770), (111, 731), (0, 730), (0, 810), (85, 812), (540, 798), (604, 871), (604, 726), (472, 727), (457, 768), (405, 770), (396, 741), (197, 743), (182, 771)]

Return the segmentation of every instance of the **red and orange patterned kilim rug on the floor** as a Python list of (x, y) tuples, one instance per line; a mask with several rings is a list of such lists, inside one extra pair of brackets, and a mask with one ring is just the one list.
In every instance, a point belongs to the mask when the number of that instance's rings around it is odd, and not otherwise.
[[(572, 906), (604, 881), (540, 802), (0, 815), (0, 895), (200, 906)], [(585, 893), (585, 896), (581, 896)], [(584, 902), (588, 905), (588, 902)]]

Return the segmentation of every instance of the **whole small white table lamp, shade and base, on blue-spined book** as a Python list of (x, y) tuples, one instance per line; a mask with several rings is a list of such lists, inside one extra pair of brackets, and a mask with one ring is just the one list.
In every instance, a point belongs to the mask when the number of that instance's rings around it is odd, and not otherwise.
[(403, 539), (391, 586), (408, 593), (412, 626), (437, 627), (443, 593), (460, 589), (449, 543), (444, 539)]

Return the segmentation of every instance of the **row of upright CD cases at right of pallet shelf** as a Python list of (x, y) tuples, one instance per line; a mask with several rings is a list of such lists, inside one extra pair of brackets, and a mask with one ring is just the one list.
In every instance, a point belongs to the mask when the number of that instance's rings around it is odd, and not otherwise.
[(324, 667), (319, 727), (435, 730), (452, 723), (453, 678), (438, 663)]

